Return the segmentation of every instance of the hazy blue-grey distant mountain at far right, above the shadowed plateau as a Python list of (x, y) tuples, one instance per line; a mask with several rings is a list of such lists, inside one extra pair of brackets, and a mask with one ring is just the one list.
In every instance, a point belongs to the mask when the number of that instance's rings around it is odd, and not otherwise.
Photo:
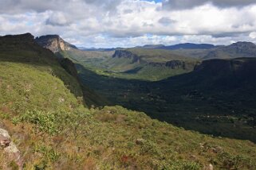
[(239, 57), (256, 57), (256, 45), (251, 42), (237, 42), (228, 46), (216, 48), (209, 52), (203, 59), (214, 58), (239, 58)]

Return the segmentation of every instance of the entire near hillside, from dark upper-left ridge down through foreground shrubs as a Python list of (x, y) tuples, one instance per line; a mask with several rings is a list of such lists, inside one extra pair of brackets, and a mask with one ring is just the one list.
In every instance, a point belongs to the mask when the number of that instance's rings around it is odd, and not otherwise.
[[(179, 129), (120, 106), (88, 110), (72, 71), (33, 36), (0, 42), (0, 126), (18, 145), (25, 169), (256, 168), (250, 141)], [(0, 157), (0, 168), (18, 168), (2, 149)]]

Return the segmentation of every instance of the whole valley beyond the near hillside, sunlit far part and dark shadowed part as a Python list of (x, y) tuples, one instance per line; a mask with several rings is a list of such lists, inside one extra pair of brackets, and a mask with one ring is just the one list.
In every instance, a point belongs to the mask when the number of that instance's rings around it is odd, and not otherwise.
[[(231, 44), (227, 52), (250, 52), (247, 44)], [(239, 50), (231, 48), (236, 46)], [(81, 83), (97, 94), (90, 100), (104, 100), (89, 102), (89, 106), (125, 106), (185, 129), (255, 142), (256, 59), (203, 60), (193, 55), (224, 47), (185, 47), (119, 48), (115, 52), (72, 49), (57, 55), (76, 64)]]

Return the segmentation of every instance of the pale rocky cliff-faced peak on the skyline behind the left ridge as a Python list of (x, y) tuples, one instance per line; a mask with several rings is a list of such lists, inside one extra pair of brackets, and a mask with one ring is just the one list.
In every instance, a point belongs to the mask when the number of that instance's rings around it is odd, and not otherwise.
[(47, 35), (47, 36), (37, 37), (35, 41), (37, 42), (37, 44), (41, 45), (44, 48), (48, 48), (54, 53), (57, 53), (60, 51), (68, 51), (70, 49), (77, 49), (76, 46), (65, 42), (58, 35)]

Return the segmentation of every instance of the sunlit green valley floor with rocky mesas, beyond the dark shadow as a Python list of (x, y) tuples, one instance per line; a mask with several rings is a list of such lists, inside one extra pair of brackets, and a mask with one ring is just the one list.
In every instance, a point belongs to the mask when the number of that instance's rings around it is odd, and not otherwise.
[(61, 51), (57, 55), (82, 64), (99, 75), (147, 81), (190, 72), (199, 63), (197, 59), (179, 56), (177, 52), (163, 49), (127, 48), (117, 49), (116, 52), (86, 52), (73, 49)]

